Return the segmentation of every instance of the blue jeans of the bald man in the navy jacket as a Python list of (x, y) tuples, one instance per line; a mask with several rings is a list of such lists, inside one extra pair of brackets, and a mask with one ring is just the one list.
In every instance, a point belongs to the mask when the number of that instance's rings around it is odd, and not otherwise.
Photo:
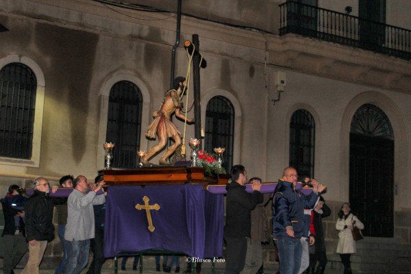
[(279, 257), (280, 274), (298, 274), (301, 261), (301, 240), (285, 238), (275, 240)]

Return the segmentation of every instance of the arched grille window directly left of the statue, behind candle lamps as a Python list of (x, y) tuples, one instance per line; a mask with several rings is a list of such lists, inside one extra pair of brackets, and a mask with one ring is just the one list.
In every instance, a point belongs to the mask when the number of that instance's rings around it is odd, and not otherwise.
[(128, 81), (117, 82), (110, 90), (106, 142), (115, 144), (113, 167), (137, 166), (140, 148), (142, 95), (140, 89)]

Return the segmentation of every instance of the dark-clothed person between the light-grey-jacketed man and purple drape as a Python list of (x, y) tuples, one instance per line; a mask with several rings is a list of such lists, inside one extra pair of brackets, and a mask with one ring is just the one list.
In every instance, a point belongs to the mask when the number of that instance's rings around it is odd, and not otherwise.
[[(100, 184), (104, 181), (103, 175), (95, 177), (95, 183), (90, 187)], [(103, 189), (103, 188), (102, 188)], [(104, 192), (104, 194), (106, 194)], [(92, 262), (86, 274), (100, 274), (101, 268), (105, 262), (104, 258), (104, 223), (105, 223), (105, 203), (92, 206), (95, 214), (95, 238), (90, 240), (92, 251)]]

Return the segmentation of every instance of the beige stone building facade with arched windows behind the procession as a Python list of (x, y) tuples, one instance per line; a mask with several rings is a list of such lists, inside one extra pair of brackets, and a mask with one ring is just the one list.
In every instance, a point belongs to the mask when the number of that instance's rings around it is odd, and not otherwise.
[[(265, 182), (292, 165), (326, 184), (330, 253), (345, 201), (372, 242), (410, 244), (411, 3), (203, 2), (182, 1), (175, 76), (198, 34), (205, 148)], [(38, 175), (95, 177), (104, 142), (118, 167), (155, 145), (145, 130), (170, 88), (179, 15), (177, 1), (149, 5), (0, 0), (2, 197)]]

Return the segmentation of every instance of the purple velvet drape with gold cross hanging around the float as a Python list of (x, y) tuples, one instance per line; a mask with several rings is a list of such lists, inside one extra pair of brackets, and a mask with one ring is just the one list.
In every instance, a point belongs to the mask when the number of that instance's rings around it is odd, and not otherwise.
[[(150, 210), (153, 232), (148, 229), (147, 213), (137, 210), (158, 203)], [(201, 185), (110, 186), (106, 199), (104, 255), (121, 251), (164, 249), (198, 258), (223, 255), (223, 195), (214, 195)]]

